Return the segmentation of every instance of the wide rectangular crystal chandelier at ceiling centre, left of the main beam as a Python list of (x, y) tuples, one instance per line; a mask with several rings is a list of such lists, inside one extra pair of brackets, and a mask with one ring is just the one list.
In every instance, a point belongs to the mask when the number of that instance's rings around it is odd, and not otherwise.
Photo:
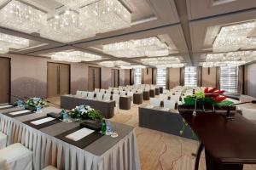
[(161, 42), (157, 37), (148, 37), (103, 45), (103, 52), (115, 57), (125, 58), (165, 56), (169, 54), (166, 43)]

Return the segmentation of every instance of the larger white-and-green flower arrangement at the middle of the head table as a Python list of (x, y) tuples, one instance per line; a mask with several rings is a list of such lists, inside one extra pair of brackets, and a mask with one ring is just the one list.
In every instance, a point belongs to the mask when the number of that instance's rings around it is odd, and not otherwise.
[(90, 105), (76, 106), (72, 111), (69, 112), (69, 115), (74, 119), (91, 119), (94, 121), (102, 121), (103, 119), (101, 111), (91, 108)]

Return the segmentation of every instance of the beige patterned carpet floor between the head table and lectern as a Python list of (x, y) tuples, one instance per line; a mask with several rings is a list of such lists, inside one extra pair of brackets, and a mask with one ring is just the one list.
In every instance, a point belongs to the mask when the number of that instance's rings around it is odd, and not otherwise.
[[(49, 99), (59, 105), (60, 99)], [(147, 104), (148, 102), (144, 102)], [(53, 106), (56, 106), (53, 105)], [(142, 170), (194, 170), (195, 156), (199, 143), (169, 133), (138, 127), (138, 106), (132, 105), (131, 110), (116, 111), (112, 120), (135, 127), (137, 148)], [(204, 154), (201, 156), (200, 170), (205, 170)], [(256, 170), (256, 166), (245, 165), (244, 170)]]

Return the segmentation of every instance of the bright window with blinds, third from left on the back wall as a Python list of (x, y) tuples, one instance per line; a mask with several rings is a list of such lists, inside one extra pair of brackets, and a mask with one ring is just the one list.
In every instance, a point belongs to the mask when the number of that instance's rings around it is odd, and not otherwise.
[(197, 67), (195, 66), (185, 67), (184, 86), (188, 86), (188, 87), (197, 86)]

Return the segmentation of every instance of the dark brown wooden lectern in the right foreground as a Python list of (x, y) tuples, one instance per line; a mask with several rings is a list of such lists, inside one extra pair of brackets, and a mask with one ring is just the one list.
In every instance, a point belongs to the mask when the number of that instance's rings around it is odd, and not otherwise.
[(241, 170), (243, 164), (256, 164), (256, 124), (239, 113), (226, 119), (217, 113), (198, 112), (180, 106), (180, 114), (200, 139), (195, 170), (205, 148), (207, 170)]

